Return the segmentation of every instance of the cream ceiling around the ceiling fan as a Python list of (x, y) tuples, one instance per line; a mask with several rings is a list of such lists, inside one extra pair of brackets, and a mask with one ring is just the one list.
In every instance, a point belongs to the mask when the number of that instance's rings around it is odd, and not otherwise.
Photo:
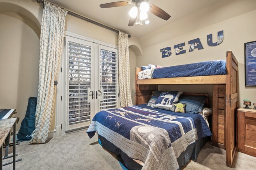
[[(148, 12), (148, 25), (135, 25), (128, 27), (130, 16), (129, 10), (134, 6), (120, 6), (114, 8), (100, 8), (100, 4), (116, 2), (121, 0), (48, 0), (53, 4), (76, 12), (86, 18), (100, 22), (106, 26), (121, 30), (138, 38), (157, 30), (163, 26), (171, 24), (185, 16), (188, 16), (202, 8), (210, 6), (219, 0), (149, 0), (148, 3), (154, 4), (166, 11), (171, 18), (168, 21), (158, 18)], [(196, 18), (195, 18), (196, 20)]]

